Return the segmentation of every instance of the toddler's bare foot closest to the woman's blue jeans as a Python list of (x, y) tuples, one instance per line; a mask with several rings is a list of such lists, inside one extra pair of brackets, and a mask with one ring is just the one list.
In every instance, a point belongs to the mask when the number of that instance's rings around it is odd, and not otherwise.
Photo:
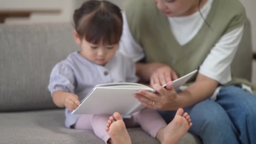
[(164, 128), (162, 144), (176, 144), (191, 126), (190, 116), (187, 112), (184, 113), (183, 109), (179, 108), (171, 123)]

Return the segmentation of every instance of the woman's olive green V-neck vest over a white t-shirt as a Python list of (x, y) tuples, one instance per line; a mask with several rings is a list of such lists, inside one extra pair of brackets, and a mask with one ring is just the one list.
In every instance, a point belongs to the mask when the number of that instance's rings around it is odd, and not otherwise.
[[(206, 18), (210, 27), (204, 23), (192, 40), (180, 45), (171, 32), (168, 17), (152, 0), (127, 0), (124, 10), (131, 34), (144, 48), (146, 62), (168, 64), (179, 77), (199, 69), (220, 37), (247, 20), (245, 9), (238, 0), (213, 0)], [(239, 83), (253, 87), (248, 81), (235, 77), (228, 85)]]

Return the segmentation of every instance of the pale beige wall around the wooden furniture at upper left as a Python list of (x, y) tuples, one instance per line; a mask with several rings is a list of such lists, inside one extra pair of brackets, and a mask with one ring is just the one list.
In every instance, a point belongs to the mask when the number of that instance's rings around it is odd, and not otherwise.
[(6, 23), (40, 23), (70, 21), (74, 0), (0, 0), (0, 9), (57, 9), (59, 14), (32, 14), (29, 19), (6, 19)]

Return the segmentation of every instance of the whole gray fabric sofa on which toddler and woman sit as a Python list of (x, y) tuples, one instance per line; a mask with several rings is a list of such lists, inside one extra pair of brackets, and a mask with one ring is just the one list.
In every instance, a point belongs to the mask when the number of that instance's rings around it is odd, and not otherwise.
[[(0, 25), (0, 144), (104, 144), (93, 131), (65, 128), (64, 109), (47, 89), (54, 64), (79, 50), (72, 31), (71, 24)], [(250, 79), (250, 31), (245, 33), (239, 53), (246, 56), (235, 65), (237, 75)], [(128, 132), (133, 144), (159, 143), (141, 128)], [(187, 133), (179, 143), (201, 141)]]

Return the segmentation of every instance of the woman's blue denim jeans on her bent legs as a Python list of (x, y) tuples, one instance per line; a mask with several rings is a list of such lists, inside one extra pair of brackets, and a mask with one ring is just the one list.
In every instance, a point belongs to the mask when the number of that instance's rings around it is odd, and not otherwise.
[[(256, 144), (256, 96), (234, 85), (221, 88), (216, 101), (206, 99), (188, 112), (192, 127), (189, 132), (205, 144)], [(167, 123), (174, 111), (158, 111)]]

